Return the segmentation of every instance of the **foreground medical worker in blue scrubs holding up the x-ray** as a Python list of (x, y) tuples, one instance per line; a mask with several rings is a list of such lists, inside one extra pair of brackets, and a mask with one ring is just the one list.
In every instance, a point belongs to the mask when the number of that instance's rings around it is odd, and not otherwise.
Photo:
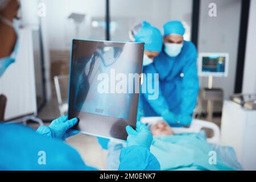
[[(19, 28), (14, 18), (17, 0), (0, 0), (0, 78), (15, 63)], [(60, 117), (37, 131), (19, 124), (0, 123), (0, 170), (96, 170), (87, 166), (79, 153), (63, 142), (79, 133), (71, 128), (77, 118)], [(120, 155), (119, 170), (159, 170), (160, 164), (149, 148), (152, 135), (137, 122), (136, 130), (126, 127), (127, 147)]]

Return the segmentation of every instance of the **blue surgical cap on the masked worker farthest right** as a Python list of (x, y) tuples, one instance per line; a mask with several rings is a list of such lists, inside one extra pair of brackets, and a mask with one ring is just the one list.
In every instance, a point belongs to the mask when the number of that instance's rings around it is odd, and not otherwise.
[(183, 36), (185, 33), (185, 28), (183, 27), (183, 24), (180, 21), (170, 21), (164, 24), (164, 36), (176, 34)]

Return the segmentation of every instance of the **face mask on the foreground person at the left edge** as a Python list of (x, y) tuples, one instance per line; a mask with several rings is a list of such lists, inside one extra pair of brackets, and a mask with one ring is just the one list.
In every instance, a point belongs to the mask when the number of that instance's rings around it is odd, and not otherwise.
[(0, 16), (0, 21), (7, 24), (10, 27), (13, 27), (16, 32), (16, 35), (17, 35), (17, 40), (16, 40), (14, 50), (11, 53), (11, 55), (0, 59), (0, 77), (1, 77), (3, 75), (3, 73), (6, 71), (6, 69), (9, 67), (9, 65), (15, 62), (15, 57), (16, 57), (16, 54), (18, 51), (18, 42), (19, 42), (18, 41), (19, 40), (18, 29), (19, 28), (18, 28), (18, 22), (16, 22), (16, 21), (14, 23), (12, 23), (12, 22), (10, 22), (10, 20), (3, 18), (2, 16)]

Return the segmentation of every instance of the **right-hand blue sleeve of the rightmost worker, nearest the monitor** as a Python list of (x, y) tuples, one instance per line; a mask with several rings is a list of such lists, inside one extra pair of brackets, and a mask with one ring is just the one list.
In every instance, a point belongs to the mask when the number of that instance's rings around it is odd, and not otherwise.
[(193, 44), (188, 49), (187, 54), (188, 63), (185, 64), (183, 68), (184, 77), (182, 82), (180, 114), (192, 115), (199, 93), (199, 78), (197, 76), (197, 51)]

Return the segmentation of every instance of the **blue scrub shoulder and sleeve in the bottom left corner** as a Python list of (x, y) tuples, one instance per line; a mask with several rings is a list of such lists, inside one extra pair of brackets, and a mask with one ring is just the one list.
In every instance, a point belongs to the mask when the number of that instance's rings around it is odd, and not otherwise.
[(18, 124), (0, 124), (0, 170), (97, 170), (68, 144)]

